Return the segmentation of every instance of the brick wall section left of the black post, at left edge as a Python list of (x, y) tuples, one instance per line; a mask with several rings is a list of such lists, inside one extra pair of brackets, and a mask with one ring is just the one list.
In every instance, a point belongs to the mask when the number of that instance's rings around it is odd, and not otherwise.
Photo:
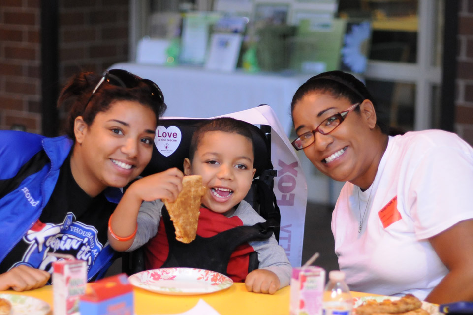
[(41, 130), (40, 0), (1, 0), (0, 129)]

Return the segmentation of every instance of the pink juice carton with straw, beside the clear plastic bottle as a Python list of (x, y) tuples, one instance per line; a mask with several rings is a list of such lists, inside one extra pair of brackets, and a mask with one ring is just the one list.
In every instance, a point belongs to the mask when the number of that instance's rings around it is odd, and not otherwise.
[(292, 269), (291, 315), (321, 315), (325, 270), (316, 266)]

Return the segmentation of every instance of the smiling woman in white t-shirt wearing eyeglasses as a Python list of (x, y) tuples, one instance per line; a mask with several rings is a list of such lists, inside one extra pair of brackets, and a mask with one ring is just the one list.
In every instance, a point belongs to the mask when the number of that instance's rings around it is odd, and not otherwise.
[(307, 80), (291, 103), (314, 166), (346, 182), (332, 215), (335, 253), (353, 291), (473, 300), (473, 149), (441, 130), (391, 136), (354, 76)]

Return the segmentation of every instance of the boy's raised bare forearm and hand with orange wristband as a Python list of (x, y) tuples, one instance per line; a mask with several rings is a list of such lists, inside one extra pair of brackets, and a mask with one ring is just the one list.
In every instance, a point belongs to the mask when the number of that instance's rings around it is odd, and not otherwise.
[(164, 172), (143, 177), (131, 184), (122, 196), (119, 204), (110, 217), (108, 241), (116, 251), (126, 251), (133, 244), (135, 236), (129, 240), (117, 240), (133, 235), (137, 229), (138, 212), (143, 201), (167, 199), (174, 201), (182, 190), (182, 172), (171, 168)]

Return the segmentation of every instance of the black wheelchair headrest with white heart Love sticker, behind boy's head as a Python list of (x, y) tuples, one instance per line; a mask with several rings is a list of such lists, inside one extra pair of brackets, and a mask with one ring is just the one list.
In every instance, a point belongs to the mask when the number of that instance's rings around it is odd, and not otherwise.
[[(161, 119), (155, 133), (155, 146), (153, 155), (148, 166), (141, 176), (165, 171), (172, 167), (183, 170), (184, 158), (189, 158), (189, 147), (192, 134), (199, 124), (207, 118), (202, 119)], [(259, 127), (250, 123), (248, 128), (252, 133), (254, 143), (254, 177), (259, 177), (261, 172), (273, 169), (271, 163), (271, 135), (270, 126), (262, 125), (268, 129), (266, 134)]]

